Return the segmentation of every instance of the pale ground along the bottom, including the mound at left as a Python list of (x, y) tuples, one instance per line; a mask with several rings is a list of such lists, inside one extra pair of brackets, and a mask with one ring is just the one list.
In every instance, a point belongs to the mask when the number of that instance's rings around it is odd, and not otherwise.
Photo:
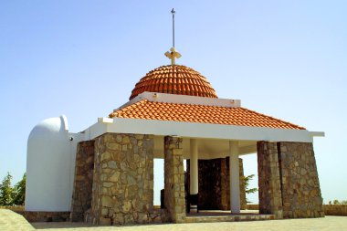
[(32, 223), (31, 225), (21, 215), (15, 212), (0, 209), (0, 230), (47, 230), (47, 231), (204, 231), (204, 230), (276, 230), (276, 231), (307, 231), (307, 230), (347, 230), (347, 216), (326, 216), (315, 219), (293, 219), (293, 220), (271, 220), (254, 222), (224, 222), (224, 223), (195, 223), (195, 224), (170, 224), (170, 225), (152, 225), (152, 226), (86, 226), (83, 223)]

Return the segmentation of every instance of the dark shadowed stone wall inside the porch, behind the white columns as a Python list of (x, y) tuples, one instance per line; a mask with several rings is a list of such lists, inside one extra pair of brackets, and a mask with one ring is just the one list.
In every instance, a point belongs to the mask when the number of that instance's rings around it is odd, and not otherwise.
[[(243, 162), (239, 158), (240, 204), (246, 209), (246, 192)], [(190, 160), (187, 160), (189, 175)], [(198, 209), (230, 210), (229, 158), (198, 160), (199, 199)]]

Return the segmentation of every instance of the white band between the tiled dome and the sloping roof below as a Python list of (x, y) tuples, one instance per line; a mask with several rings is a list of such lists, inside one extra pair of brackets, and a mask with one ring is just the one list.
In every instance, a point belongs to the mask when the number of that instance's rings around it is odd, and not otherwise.
[(215, 106), (224, 108), (239, 108), (241, 107), (241, 100), (231, 100), (231, 99), (217, 99), (208, 97), (198, 97), (198, 96), (186, 96), (186, 95), (175, 95), (166, 93), (156, 93), (145, 91), (140, 95), (136, 96), (134, 99), (123, 104), (120, 108), (113, 111), (121, 110), (131, 104), (134, 104), (140, 100), (149, 100), (151, 102), (167, 102), (167, 103), (179, 103), (179, 104), (194, 104), (194, 105), (205, 105), (205, 106)]

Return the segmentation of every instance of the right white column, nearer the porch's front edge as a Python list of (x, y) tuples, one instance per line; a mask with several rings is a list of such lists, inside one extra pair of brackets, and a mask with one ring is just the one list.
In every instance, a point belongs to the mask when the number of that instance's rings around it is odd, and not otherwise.
[(240, 183), (238, 166), (238, 142), (229, 141), (229, 175), (231, 213), (240, 212)]

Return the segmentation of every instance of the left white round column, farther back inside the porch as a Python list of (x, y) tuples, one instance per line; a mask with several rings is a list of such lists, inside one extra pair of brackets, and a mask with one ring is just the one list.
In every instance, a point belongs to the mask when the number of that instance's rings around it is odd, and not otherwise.
[(198, 168), (197, 168), (197, 141), (190, 139), (190, 194), (199, 191)]

